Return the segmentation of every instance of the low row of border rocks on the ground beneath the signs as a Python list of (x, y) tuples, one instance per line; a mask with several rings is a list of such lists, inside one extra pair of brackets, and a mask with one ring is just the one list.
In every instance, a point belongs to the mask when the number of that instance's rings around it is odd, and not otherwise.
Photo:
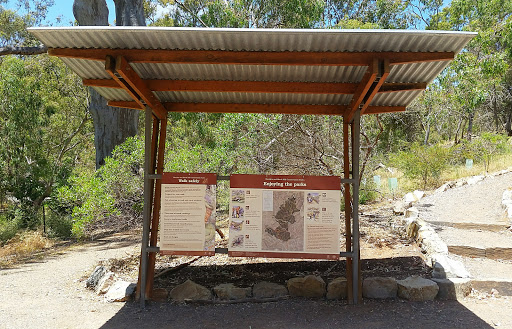
[[(263, 295), (257, 293), (258, 287), (265, 286)], [(191, 280), (174, 287), (165, 300), (159, 302), (199, 303), (199, 304), (234, 304), (234, 303), (261, 303), (275, 302), (290, 298), (309, 298), (320, 300), (346, 300), (347, 285), (344, 277), (332, 279), (328, 284), (320, 276), (308, 275), (288, 280), (285, 285), (258, 282), (252, 287), (240, 288), (232, 283), (224, 283), (214, 288), (206, 288)], [(222, 289), (220, 288), (222, 286)], [(327, 286), (327, 289), (326, 289)], [(457, 300), (465, 298), (471, 292), (469, 279), (426, 279), (419, 276), (410, 276), (404, 280), (392, 277), (371, 277), (363, 281), (363, 297), (365, 299), (404, 299), (409, 301), (427, 301), (434, 299)], [(207, 292), (197, 296), (190, 294), (190, 287), (194, 291)], [(224, 289), (236, 291), (227, 294)], [(267, 290), (268, 289), (268, 290)], [(165, 290), (165, 289), (161, 289)], [(178, 295), (177, 291), (187, 291), (187, 296)], [(223, 290), (220, 292), (220, 290)], [(220, 292), (220, 293), (219, 293)], [(274, 293), (275, 292), (275, 293)], [(208, 297), (206, 297), (206, 295)]]

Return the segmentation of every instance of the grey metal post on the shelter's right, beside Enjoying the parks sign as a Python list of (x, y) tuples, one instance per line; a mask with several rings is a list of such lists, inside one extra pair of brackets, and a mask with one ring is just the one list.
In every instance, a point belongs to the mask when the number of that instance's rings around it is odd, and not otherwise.
[(359, 303), (359, 140), (360, 140), (361, 111), (354, 114), (353, 140), (352, 140), (352, 179), (354, 180), (352, 193), (352, 244), (354, 246), (352, 258), (352, 287), (354, 304)]

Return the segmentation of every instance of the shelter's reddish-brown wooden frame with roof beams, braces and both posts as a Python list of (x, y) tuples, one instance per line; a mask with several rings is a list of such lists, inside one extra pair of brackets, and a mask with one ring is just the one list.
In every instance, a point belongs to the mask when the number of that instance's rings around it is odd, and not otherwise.
[[(359, 250), (359, 131), (361, 115), (405, 111), (405, 106), (372, 106), (378, 94), (424, 90), (426, 83), (388, 83), (393, 65), (429, 61), (449, 61), (453, 52), (261, 52), (220, 50), (143, 50), (143, 49), (49, 49), (49, 54), (64, 58), (104, 61), (112, 79), (84, 79), (86, 86), (121, 89), (131, 101), (109, 101), (108, 105), (145, 110), (145, 175), (143, 236), (137, 296), (141, 305), (151, 299), (155, 256), (159, 251), (158, 224), (161, 176), (165, 152), (168, 112), (210, 113), (284, 113), (343, 116), (344, 201), (349, 302), (362, 298)], [(308, 65), (365, 66), (357, 83), (216, 81), (142, 79), (131, 63), (193, 63), (223, 65)], [(169, 77), (172, 78), (172, 77)], [(243, 103), (169, 103), (161, 102), (155, 92), (214, 93), (289, 93), (352, 95), (348, 105), (243, 104)], [(352, 189), (352, 190), (351, 190)]]

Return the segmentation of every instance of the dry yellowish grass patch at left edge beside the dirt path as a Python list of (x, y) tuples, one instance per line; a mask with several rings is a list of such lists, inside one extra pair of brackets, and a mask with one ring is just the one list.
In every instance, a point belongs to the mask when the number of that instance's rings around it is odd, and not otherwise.
[(17, 233), (0, 249), (0, 267), (10, 267), (51, 248), (55, 241), (37, 231)]

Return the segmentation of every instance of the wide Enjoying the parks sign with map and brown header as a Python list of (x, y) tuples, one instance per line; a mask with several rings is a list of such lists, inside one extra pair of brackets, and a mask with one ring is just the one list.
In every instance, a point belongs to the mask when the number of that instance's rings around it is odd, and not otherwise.
[(338, 259), (341, 179), (231, 175), (230, 256)]

